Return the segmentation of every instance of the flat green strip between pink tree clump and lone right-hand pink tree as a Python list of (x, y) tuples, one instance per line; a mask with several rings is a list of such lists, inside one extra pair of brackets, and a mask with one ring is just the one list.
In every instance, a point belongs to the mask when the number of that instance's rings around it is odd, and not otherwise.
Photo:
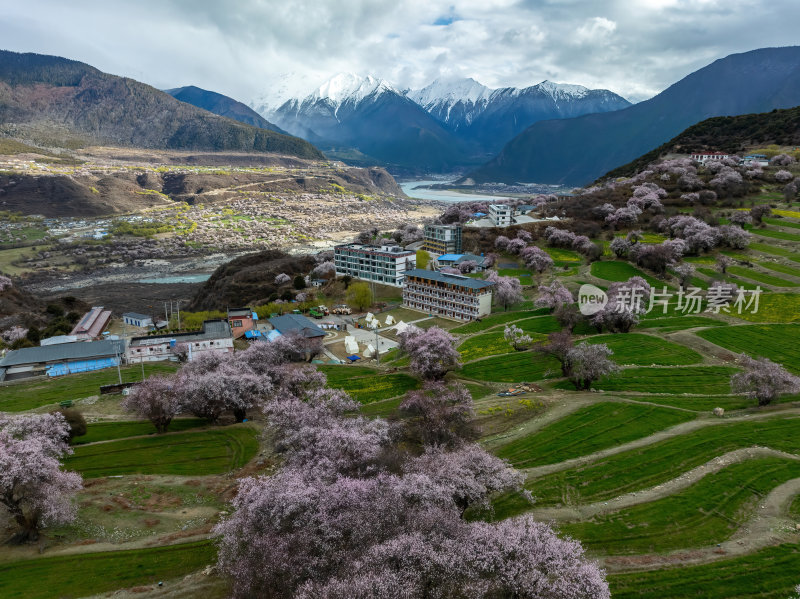
[[(603, 391), (724, 395), (730, 392), (730, 377), (734, 372), (735, 368), (727, 366), (626, 368), (612, 377), (595, 382), (592, 387)], [(574, 386), (562, 381), (556, 388), (574, 389)]]

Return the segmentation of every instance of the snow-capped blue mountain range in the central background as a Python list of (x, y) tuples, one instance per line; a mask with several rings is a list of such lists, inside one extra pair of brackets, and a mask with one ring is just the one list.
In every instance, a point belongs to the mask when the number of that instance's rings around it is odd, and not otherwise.
[(608, 90), (551, 81), (491, 89), (474, 79), (447, 78), (401, 91), (384, 79), (340, 73), (304, 95), (282, 95), (299, 87), (284, 80), (273, 86), (269, 100), (264, 96), (251, 106), (323, 150), (352, 156), (355, 149), (366, 161), (429, 170), (486, 160), (537, 121), (630, 105)]

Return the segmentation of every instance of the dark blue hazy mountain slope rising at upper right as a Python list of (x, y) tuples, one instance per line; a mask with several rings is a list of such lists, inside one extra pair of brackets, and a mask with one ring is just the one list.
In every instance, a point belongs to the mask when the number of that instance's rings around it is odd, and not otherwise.
[(630, 108), (536, 123), (469, 178), (583, 185), (709, 117), (798, 104), (800, 47), (733, 54)]

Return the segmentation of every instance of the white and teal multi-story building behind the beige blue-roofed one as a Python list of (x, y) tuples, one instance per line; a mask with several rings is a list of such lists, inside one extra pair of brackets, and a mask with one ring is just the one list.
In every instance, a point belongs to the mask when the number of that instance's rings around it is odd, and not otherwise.
[(333, 252), (337, 276), (350, 275), (399, 287), (406, 271), (417, 266), (417, 253), (396, 245), (337, 245)]

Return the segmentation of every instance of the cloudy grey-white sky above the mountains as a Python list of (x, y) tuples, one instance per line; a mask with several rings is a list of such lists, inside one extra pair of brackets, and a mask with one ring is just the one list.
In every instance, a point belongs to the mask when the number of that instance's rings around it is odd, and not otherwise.
[(798, 0), (26, 0), (4, 3), (0, 47), (244, 102), (342, 71), (639, 101), (728, 54), (800, 44), (798, 23)]

